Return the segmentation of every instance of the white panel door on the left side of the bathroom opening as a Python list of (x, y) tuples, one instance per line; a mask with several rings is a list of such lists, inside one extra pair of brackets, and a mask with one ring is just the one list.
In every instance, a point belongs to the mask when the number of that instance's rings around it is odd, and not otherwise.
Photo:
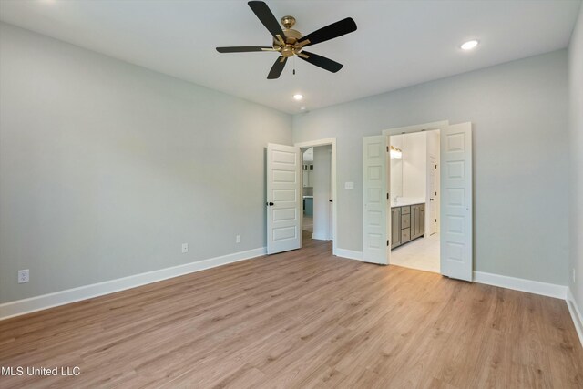
[(391, 255), (388, 137), (363, 138), (363, 261), (386, 265)]

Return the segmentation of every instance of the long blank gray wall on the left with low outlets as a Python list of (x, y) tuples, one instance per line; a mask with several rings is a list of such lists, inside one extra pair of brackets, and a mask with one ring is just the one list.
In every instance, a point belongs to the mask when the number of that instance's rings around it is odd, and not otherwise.
[(290, 116), (6, 24), (0, 85), (0, 302), (265, 245)]

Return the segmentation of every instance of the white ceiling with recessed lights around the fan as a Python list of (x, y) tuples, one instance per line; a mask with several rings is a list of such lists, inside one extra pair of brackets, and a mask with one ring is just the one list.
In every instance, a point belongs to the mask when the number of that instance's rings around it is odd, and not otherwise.
[[(215, 46), (270, 46), (243, 0), (0, 0), (0, 19), (265, 106), (297, 113), (568, 46), (579, 0), (268, 0), (303, 35), (352, 16), (358, 30), (310, 51), (336, 74), (296, 59), (266, 79), (276, 53), (219, 54)], [(458, 46), (480, 40), (472, 52)], [(296, 102), (292, 95), (305, 98)]]

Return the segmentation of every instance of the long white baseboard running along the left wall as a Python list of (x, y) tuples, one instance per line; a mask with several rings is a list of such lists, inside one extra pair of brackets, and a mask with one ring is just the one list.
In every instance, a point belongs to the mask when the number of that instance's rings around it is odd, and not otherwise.
[(41, 296), (30, 297), (15, 302), (5, 302), (0, 304), (0, 320), (8, 319), (22, 314), (45, 310), (47, 308), (64, 305), (71, 302), (79, 302), (104, 294), (124, 291), (137, 286), (146, 285), (152, 282), (167, 280), (172, 277), (189, 274), (195, 271), (203, 271), (227, 263), (245, 261), (251, 258), (265, 255), (266, 248), (240, 251), (221, 257), (210, 258), (209, 260), (186, 263), (184, 265), (173, 266), (158, 271), (148, 271), (136, 275), (131, 275), (116, 280), (98, 282), (78, 288), (67, 289), (66, 291), (43, 294)]

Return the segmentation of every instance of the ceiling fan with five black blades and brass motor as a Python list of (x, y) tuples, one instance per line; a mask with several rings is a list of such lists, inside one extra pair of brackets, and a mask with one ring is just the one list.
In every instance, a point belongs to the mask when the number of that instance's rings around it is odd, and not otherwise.
[(295, 24), (295, 18), (293, 16), (283, 16), (281, 18), (281, 25), (285, 28), (281, 29), (277, 19), (271, 13), (269, 6), (264, 2), (250, 1), (247, 4), (251, 7), (251, 11), (257, 15), (263, 26), (269, 30), (271, 36), (273, 36), (273, 46), (217, 47), (219, 53), (245, 53), (251, 51), (279, 52), (281, 56), (275, 60), (275, 63), (271, 67), (270, 73), (267, 76), (268, 79), (280, 77), (287, 59), (291, 56), (298, 56), (304, 61), (316, 67), (322, 67), (322, 69), (326, 69), (332, 73), (336, 73), (342, 69), (342, 64), (332, 61), (332, 59), (326, 58), (325, 56), (318, 56), (317, 54), (304, 51), (303, 48), (356, 31), (356, 23), (354, 23), (352, 17), (347, 17), (336, 23), (332, 23), (332, 25), (322, 27), (312, 32), (312, 34), (302, 36), (302, 33), (292, 29), (292, 26)]

